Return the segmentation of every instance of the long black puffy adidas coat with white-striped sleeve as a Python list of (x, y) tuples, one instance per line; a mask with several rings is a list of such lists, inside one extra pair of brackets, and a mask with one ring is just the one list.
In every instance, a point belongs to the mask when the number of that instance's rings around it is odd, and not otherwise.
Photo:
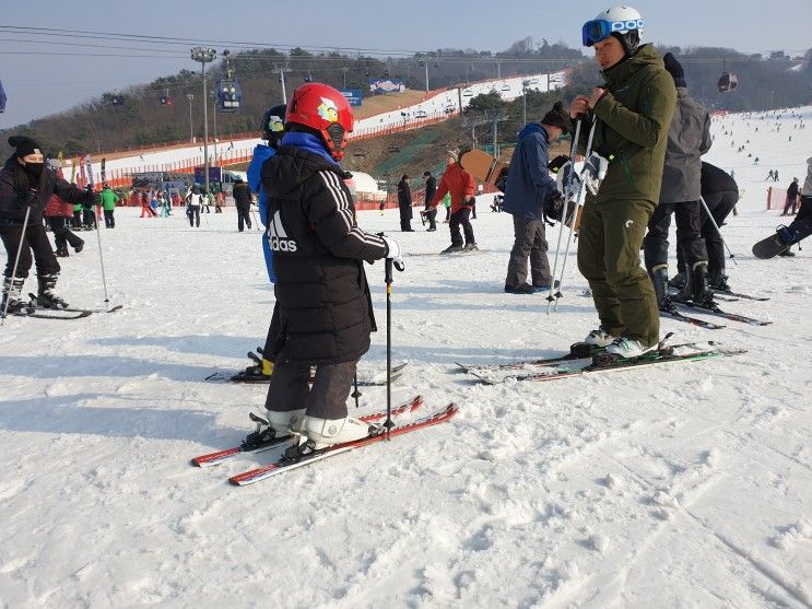
[(316, 153), (281, 147), (264, 162), (268, 239), (281, 336), (275, 363), (337, 364), (357, 360), (375, 330), (364, 263), (387, 246), (358, 229), (341, 167)]

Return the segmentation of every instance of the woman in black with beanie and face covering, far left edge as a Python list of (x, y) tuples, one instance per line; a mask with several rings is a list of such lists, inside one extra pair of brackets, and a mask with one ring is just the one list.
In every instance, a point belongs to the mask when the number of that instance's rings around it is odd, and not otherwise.
[(33, 139), (12, 136), (9, 144), (15, 151), (0, 169), (0, 238), (7, 254), (0, 314), (25, 314), (27, 307), (21, 296), (32, 261), (39, 283), (36, 305), (67, 308), (68, 303), (55, 292), (61, 269), (43, 226), (43, 211), (51, 195), (69, 203), (95, 202), (97, 195), (80, 190), (46, 167), (39, 144)]

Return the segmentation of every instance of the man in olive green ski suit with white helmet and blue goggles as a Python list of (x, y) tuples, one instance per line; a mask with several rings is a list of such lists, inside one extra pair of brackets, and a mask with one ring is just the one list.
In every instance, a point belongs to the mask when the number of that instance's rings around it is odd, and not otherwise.
[[(676, 106), (671, 75), (652, 44), (640, 45), (644, 22), (631, 7), (602, 11), (584, 24), (604, 79), (591, 94), (573, 99), (569, 116), (591, 113), (591, 150), (584, 129), (579, 150), (587, 187), (578, 232), (578, 269), (589, 282), (600, 327), (586, 342), (634, 358), (656, 349), (660, 315), (654, 285), (640, 267), (640, 245), (660, 196), (668, 130)], [(589, 155), (595, 155), (590, 159)]]

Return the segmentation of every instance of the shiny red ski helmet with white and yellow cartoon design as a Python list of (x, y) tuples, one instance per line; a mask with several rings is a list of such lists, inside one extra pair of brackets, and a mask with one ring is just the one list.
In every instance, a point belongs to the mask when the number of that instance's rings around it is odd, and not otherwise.
[(308, 82), (294, 91), (287, 102), (285, 126), (290, 124), (317, 131), (330, 155), (341, 161), (346, 148), (346, 134), (353, 128), (352, 108), (339, 90), (329, 84)]

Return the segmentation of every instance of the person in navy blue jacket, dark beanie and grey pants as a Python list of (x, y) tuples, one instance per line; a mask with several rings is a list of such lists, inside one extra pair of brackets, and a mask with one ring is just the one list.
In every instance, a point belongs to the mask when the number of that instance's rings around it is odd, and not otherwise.
[[(548, 171), (548, 149), (569, 130), (570, 124), (564, 105), (556, 102), (541, 124), (529, 122), (519, 131), (502, 203), (502, 209), (514, 216), (514, 247), (505, 278), (505, 292), (510, 294), (532, 294), (550, 289), (544, 209), (558, 190)], [(528, 258), (532, 283), (527, 282)]]

